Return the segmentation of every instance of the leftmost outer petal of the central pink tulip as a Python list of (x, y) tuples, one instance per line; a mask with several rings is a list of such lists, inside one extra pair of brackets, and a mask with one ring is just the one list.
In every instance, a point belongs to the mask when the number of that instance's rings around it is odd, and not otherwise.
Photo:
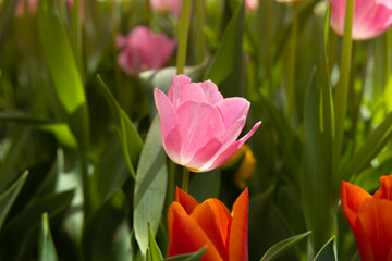
[(160, 89), (154, 89), (154, 97), (161, 122), (163, 148), (172, 161), (181, 163), (181, 137), (174, 108)]

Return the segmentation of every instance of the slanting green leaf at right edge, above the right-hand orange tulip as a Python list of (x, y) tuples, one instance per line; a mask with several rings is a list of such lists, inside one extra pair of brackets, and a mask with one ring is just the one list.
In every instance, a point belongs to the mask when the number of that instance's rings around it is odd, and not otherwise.
[(364, 145), (340, 172), (340, 177), (348, 181), (352, 176), (358, 175), (384, 148), (391, 138), (392, 112), (389, 113), (385, 120), (367, 137)]

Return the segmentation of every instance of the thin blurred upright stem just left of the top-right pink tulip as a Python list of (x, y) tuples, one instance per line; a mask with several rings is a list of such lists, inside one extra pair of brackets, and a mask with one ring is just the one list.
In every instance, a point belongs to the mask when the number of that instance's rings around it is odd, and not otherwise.
[(296, 67), (296, 47), (298, 38), (298, 8), (293, 3), (293, 29), (289, 53), (289, 75), (287, 75), (287, 119), (294, 119), (295, 105), (295, 67)]

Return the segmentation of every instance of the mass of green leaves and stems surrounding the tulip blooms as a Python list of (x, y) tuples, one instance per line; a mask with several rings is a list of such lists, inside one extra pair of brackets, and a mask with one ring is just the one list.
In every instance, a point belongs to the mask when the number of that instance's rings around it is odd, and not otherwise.
[[(162, 149), (152, 88), (169, 89), (176, 55), (127, 76), (114, 38), (138, 24), (176, 37), (180, 20), (144, 0), (84, 1), (83, 10), (81, 0), (72, 9), (39, 0), (37, 14), (20, 17), (16, 2), (0, 3), (0, 259), (167, 257), (182, 171)], [(184, 73), (247, 98), (247, 122), (262, 121), (248, 141), (250, 260), (285, 249), (280, 260), (320, 249), (317, 260), (355, 260), (340, 181), (375, 191), (391, 172), (392, 32), (347, 52), (328, 25), (321, 0), (262, 0), (257, 11), (193, 1)], [(192, 174), (191, 195), (231, 209), (237, 167)]]

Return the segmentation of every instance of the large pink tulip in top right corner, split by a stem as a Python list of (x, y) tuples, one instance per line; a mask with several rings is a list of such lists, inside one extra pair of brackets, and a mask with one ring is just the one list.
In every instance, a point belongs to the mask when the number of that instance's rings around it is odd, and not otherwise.
[[(365, 40), (385, 32), (392, 25), (391, 0), (354, 0), (353, 39)], [(339, 34), (344, 33), (346, 0), (332, 2), (331, 26)]]

